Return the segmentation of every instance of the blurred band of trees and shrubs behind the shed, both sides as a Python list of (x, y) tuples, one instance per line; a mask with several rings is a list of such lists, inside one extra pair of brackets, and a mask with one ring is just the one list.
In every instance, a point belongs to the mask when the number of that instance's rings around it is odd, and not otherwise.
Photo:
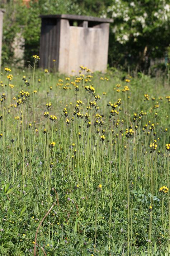
[(25, 64), (39, 51), (40, 14), (80, 14), (114, 19), (110, 26), (109, 65), (125, 69), (148, 70), (150, 60), (162, 58), (166, 69), (169, 55), (170, 5), (168, 0), (4, 0), (3, 63), (13, 60), (15, 33), (25, 39)]

